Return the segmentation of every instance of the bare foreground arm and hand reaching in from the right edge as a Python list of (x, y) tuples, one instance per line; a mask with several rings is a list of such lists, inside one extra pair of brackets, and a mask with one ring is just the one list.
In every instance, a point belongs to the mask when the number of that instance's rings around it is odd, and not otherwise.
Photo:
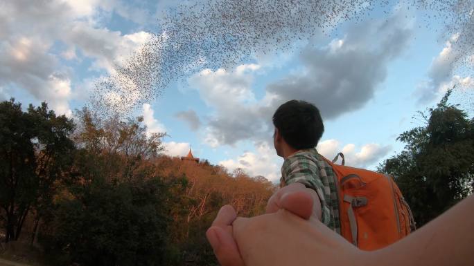
[(247, 266), (474, 265), (473, 209), (474, 196), (470, 196), (413, 234), (377, 251), (362, 251), (321, 222), (301, 219), (286, 210), (237, 218), (232, 227)]

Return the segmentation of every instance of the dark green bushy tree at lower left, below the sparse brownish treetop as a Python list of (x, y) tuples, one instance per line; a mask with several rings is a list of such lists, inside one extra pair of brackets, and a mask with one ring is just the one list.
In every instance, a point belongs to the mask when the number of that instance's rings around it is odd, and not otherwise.
[(114, 184), (96, 177), (70, 191), (57, 201), (52, 234), (42, 237), (50, 262), (164, 265), (170, 218), (160, 178)]

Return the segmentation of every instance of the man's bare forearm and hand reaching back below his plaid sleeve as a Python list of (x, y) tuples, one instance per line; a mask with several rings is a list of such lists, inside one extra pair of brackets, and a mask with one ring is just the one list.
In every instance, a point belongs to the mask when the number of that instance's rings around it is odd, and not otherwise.
[[(307, 200), (313, 204), (306, 204)], [(266, 213), (274, 213), (279, 209), (286, 209), (306, 220), (309, 218), (321, 220), (322, 210), (319, 197), (316, 191), (304, 187), (304, 184), (292, 183), (275, 192), (268, 200)]]

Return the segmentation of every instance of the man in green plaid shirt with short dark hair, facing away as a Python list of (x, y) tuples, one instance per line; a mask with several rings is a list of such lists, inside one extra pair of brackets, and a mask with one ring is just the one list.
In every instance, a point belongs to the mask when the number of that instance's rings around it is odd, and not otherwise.
[(270, 198), (267, 213), (280, 209), (279, 201), (285, 193), (306, 191), (314, 201), (312, 217), (340, 233), (337, 180), (331, 166), (315, 149), (324, 133), (319, 110), (294, 99), (282, 104), (272, 120), (274, 147), (285, 161), (281, 167), (282, 188)]

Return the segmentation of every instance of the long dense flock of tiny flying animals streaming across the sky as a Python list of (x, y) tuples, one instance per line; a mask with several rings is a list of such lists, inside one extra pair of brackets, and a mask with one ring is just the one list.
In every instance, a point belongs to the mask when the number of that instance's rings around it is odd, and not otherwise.
[[(159, 97), (173, 80), (203, 68), (231, 68), (256, 54), (283, 52), (320, 32), (330, 34), (344, 21), (397, 6), (416, 9), (424, 26), (443, 36), (456, 35), (453, 64), (472, 72), (474, 0), (184, 1), (165, 10), (146, 44), (96, 83), (91, 104), (103, 115), (128, 114)], [(433, 21), (437, 25), (430, 25)]]

